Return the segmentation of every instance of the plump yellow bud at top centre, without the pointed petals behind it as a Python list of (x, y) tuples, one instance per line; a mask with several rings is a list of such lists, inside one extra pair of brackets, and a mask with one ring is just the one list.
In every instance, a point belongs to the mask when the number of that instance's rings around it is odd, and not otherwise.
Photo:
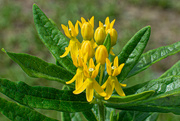
[(81, 35), (83, 37), (83, 40), (91, 40), (93, 38), (94, 30), (89, 22), (83, 23), (81, 27)]

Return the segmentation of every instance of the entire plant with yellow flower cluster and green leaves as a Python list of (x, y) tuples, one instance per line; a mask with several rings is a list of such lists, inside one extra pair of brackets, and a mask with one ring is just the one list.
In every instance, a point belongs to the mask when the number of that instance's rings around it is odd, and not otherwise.
[[(115, 55), (118, 33), (115, 20), (107, 17), (94, 28), (94, 17), (81, 17), (76, 23), (61, 25), (47, 18), (33, 5), (34, 23), (40, 39), (49, 49), (56, 64), (24, 53), (2, 49), (23, 71), (34, 78), (45, 78), (64, 84), (62, 90), (30, 86), (22, 81), (0, 79), (0, 92), (15, 102), (0, 98), (0, 111), (15, 121), (56, 121), (35, 109), (56, 110), (61, 120), (143, 121), (155, 112), (180, 115), (180, 61), (159, 78), (126, 87), (124, 80), (152, 64), (180, 52), (180, 42), (143, 53), (151, 27), (139, 30)], [(82, 40), (77, 36), (81, 35)], [(79, 113), (81, 112), (81, 116)], [(76, 117), (76, 119), (75, 119)]]

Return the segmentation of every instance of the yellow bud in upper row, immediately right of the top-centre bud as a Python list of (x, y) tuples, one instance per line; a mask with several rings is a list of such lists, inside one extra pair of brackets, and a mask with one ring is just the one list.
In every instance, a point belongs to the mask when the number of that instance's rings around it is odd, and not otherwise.
[(106, 38), (104, 27), (98, 27), (94, 34), (94, 39), (98, 45), (102, 45)]

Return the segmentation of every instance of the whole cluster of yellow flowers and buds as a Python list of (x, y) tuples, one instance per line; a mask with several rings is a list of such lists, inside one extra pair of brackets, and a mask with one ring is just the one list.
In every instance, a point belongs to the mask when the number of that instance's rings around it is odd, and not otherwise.
[[(61, 25), (65, 35), (70, 41), (68, 47), (65, 48), (65, 53), (60, 57), (65, 57), (70, 53), (73, 64), (77, 67), (75, 76), (70, 81), (66, 82), (66, 84), (75, 81), (74, 94), (82, 93), (86, 89), (86, 99), (88, 102), (93, 100), (94, 90), (100, 96), (104, 97), (105, 100), (111, 97), (114, 89), (120, 96), (125, 96), (121, 87), (125, 87), (126, 84), (119, 83), (116, 77), (121, 73), (124, 64), (118, 65), (118, 57), (116, 56), (113, 66), (111, 66), (112, 63), (108, 59), (109, 54), (107, 48), (103, 45), (109, 33), (111, 38), (110, 54), (114, 55), (112, 46), (114, 46), (117, 41), (117, 32), (113, 28), (114, 23), (115, 20), (110, 22), (109, 17), (107, 17), (104, 25), (99, 21), (99, 27), (95, 32), (94, 16), (88, 21), (81, 17), (81, 22), (77, 21), (75, 26), (71, 21), (68, 21), (69, 28), (63, 24)], [(79, 33), (78, 25), (81, 28), (81, 35), (83, 37), (82, 43), (76, 38)], [(94, 57), (96, 65), (93, 60)], [(105, 65), (109, 77), (105, 83), (101, 85)], [(96, 80), (99, 72), (99, 80)]]

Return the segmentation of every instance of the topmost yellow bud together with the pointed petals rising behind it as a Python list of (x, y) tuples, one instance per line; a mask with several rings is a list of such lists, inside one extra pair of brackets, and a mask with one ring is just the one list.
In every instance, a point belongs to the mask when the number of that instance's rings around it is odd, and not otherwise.
[(88, 22), (81, 17), (81, 22), (82, 23), (79, 22), (79, 25), (81, 27), (83, 40), (91, 40), (94, 36), (94, 16)]

